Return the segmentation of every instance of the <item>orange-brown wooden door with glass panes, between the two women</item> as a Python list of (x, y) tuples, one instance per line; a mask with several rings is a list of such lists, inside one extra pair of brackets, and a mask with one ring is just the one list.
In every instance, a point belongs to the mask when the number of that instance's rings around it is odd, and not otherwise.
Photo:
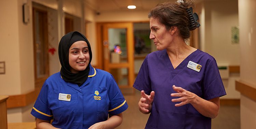
[(113, 75), (121, 90), (133, 92), (133, 23), (104, 23), (102, 27), (103, 69)]

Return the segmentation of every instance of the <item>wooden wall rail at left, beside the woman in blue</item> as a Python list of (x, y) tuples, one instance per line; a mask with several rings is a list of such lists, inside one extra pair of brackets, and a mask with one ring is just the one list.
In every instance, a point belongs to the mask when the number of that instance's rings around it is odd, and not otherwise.
[(34, 91), (27, 94), (12, 95), (6, 101), (7, 109), (25, 107), (36, 101), (41, 88), (35, 88)]

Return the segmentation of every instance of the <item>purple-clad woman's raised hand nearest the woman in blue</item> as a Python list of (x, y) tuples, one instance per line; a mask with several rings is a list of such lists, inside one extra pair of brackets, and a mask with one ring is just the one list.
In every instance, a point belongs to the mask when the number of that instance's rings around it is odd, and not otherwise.
[(139, 111), (142, 112), (143, 114), (148, 114), (151, 112), (152, 108), (152, 102), (155, 96), (154, 91), (150, 93), (150, 95), (145, 94), (144, 91), (140, 92), (140, 95), (142, 96), (139, 100), (138, 106), (139, 106)]

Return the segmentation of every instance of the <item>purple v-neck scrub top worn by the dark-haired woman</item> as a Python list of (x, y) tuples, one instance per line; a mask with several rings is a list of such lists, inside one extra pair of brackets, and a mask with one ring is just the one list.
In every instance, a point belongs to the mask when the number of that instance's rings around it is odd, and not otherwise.
[[(201, 65), (200, 71), (187, 67), (192, 61)], [(145, 129), (211, 129), (211, 118), (200, 114), (190, 103), (175, 107), (172, 86), (182, 87), (199, 97), (210, 100), (226, 95), (216, 60), (196, 50), (175, 69), (166, 49), (147, 55), (133, 87), (146, 94), (155, 92), (151, 113)]]

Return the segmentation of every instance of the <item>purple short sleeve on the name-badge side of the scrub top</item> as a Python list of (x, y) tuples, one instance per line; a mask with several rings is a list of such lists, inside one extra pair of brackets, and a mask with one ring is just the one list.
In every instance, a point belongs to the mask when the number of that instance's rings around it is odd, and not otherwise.
[(226, 91), (219, 74), (219, 69), (214, 58), (206, 67), (202, 89), (203, 97), (206, 100), (226, 95)]

